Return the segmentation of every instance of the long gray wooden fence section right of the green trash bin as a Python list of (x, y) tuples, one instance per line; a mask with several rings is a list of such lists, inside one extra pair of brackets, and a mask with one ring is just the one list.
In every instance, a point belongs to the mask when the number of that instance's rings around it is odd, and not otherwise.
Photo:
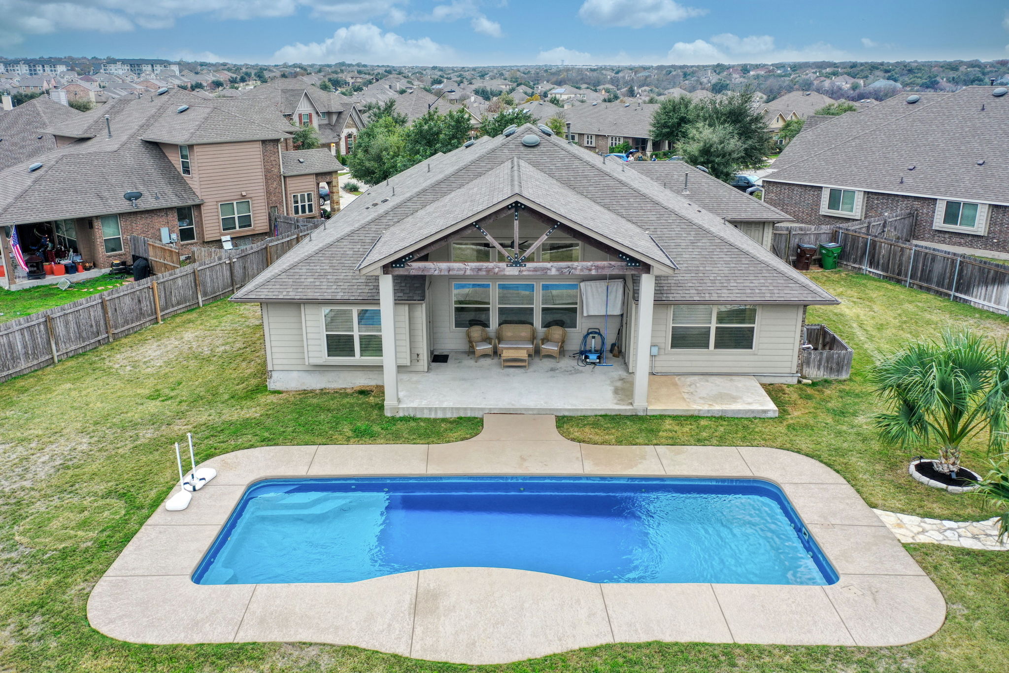
[(1009, 265), (847, 229), (836, 241), (847, 268), (1009, 315)]

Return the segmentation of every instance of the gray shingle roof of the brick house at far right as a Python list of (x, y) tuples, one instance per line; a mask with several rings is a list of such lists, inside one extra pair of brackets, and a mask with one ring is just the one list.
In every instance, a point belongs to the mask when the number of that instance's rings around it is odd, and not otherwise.
[(1009, 203), (1009, 96), (992, 91), (914, 104), (897, 96), (820, 123), (788, 144), (765, 181)]

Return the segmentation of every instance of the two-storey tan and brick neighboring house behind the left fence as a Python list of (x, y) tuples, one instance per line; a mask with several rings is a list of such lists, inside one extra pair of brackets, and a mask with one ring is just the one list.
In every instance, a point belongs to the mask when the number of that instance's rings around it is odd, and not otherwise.
[(129, 234), (166, 229), (183, 250), (265, 236), (270, 213), (291, 212), (281, 154), (293, 129), (272, 108), (231, 103), (173, 90), (38, 129), (55, 148), (0, 171), (0, 231), (16, 228), (25, 250), (47, 236), (98, 268), (129, 259)]

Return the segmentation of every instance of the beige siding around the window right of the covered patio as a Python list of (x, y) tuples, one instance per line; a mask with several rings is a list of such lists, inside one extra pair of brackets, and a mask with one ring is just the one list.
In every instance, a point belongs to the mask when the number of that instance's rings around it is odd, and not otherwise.
[[(792, 374), (797, 371), (801, 306), (758, 307), (753, 350), (671, 349), (671, 313), (669, 305), (655, 307), (652, 344), (659, 346), (659, 355), (655, 358), (658, 372)], [(630, 346), (634, 340), (625, 340), (625, 343)]]

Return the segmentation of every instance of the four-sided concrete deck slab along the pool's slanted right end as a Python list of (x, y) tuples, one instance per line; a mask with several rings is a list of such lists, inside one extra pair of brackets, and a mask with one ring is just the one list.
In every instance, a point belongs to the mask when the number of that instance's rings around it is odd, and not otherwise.
[(924, 571), (885, 526), (807, 526), (838, 573), (923, 575)]

